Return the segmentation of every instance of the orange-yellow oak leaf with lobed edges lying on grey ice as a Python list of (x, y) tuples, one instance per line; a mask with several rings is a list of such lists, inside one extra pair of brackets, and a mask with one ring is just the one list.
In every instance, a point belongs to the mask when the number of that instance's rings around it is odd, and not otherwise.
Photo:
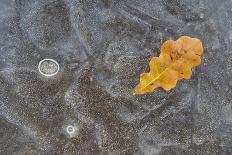
[(189, 79), (192, 68), (201, 63), (202, 42), (197, 38), (182, 36), (178, 40), (167, 40), (160, 49), (160, 56), (153, 57), (149, 63), (150, 72), (140, 75), (140, 82), (134, 95), (151, 93), (162, 87), (170, 90), (178, 80)]

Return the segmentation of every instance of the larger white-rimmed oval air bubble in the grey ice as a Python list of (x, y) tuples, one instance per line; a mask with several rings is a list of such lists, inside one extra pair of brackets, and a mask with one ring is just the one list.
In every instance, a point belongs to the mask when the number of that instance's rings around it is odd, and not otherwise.
[(55, 60), (46, 58), (39, 62), (38, 69), (40, 74), (51, 77), (59, 72), (60, 67)]

